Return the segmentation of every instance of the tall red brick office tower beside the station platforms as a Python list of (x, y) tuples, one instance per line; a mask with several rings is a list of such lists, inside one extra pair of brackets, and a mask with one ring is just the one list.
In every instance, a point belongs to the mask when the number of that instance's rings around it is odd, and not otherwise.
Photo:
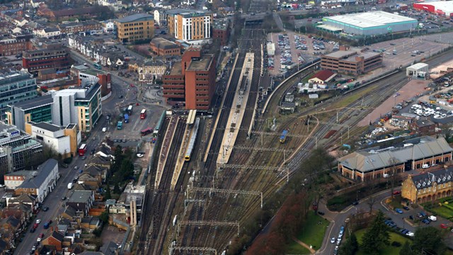
[(164, 97), (168, 103), (187, 110), (207, 111), (214, 95), (215, 77), (214, 56), (202, 56), (200, 47), (190, 47), (181, 62), (162, 77)]

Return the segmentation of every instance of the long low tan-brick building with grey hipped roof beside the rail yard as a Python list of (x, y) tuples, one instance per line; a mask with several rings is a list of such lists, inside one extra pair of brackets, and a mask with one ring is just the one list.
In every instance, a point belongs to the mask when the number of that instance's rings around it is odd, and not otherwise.
[(373, 147), (352, 152), (338, 159), (338, 171), (342, 176), (355, 181), (369, 181), (412, 169), (421, 169), (423, 164), (443, 164), (452, 161), (453, 149), (445, 138), (418, 137), (406, 140), (405, 144), (392, 147)]

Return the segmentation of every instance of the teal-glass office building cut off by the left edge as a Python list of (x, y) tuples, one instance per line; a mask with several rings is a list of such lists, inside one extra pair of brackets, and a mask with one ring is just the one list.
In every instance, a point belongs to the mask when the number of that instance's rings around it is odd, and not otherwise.
[(0, 116), (6, 118), (8, 106), (38, 95), (36, 79), (26, 71), (0, 71)]

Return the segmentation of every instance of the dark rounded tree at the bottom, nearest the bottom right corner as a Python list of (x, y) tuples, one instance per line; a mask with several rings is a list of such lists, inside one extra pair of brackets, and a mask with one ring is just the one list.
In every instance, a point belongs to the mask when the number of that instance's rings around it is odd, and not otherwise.
[(418, 227), (415, 230), (412, 250), (418, 254), (443, 254), (445, 244), (442, 242), (442, 234), (435, 227)]

